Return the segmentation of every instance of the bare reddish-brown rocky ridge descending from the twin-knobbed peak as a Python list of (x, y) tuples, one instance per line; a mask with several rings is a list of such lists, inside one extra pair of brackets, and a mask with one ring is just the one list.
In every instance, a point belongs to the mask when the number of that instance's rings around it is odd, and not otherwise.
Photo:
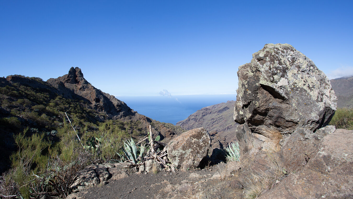
[(55, 92), (64, 95), (67, 98), (80, 98), (87, 101), (90, 106), (104, 116), (96, 116), (101, 121), (106, 119), (118, 119), (121, 121), (138, 121), (143, 131), (148, 131), (148, 126), (152, 124), (154, 127), (154, 136), (161, 136), (164, 142), (168, 142), (175, 135), (182, 133), (183, 129), (170, 124), (164, 125), (161, 122), (152, 120), (144, 115), (140, 115), (133, 111), (123, 101), (116, 99), (113, 95), (102, 92), (90, 84), (82, 74), (78, 67), (71, 67), (68, 74), (47, 80), (52, 87), (56, 88)]

